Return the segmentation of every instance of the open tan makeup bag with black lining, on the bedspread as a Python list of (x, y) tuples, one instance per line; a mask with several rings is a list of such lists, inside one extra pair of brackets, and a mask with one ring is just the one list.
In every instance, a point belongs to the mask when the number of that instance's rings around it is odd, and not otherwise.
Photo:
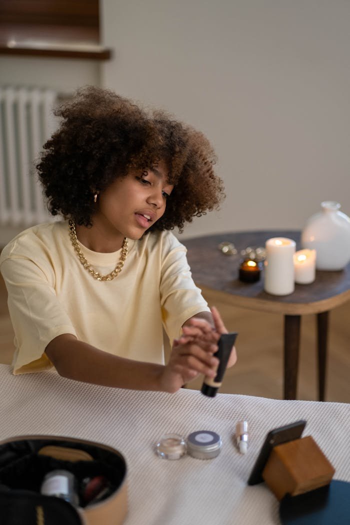
[[(40, 493), (45, 476), (57, 470), (73, 474), (77, 506)], [(120, 452), (100, 443), (43, 435), (2, 441), (1, 525), (121, 525), (128, 509), (126, 473)], [(87, 491), (89, 480), (97, 479), (103, 488)]]

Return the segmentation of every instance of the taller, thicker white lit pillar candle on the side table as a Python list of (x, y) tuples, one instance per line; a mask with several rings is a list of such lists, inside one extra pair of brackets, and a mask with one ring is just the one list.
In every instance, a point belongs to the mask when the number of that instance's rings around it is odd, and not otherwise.
[(273, 237), (266, 241), (264, 289), (272, 295), (289, 295), (294, 291), (295, 241)]

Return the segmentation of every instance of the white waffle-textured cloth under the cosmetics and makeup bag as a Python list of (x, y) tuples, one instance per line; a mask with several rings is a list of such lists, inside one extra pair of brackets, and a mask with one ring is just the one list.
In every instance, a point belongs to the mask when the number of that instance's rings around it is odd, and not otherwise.
[[(133, 392), (62, 379), (55, 372), (13, 376), (0, 366), (0, 439), (26, 434), (90, 439), (118, 449), (126, 459), (129, 514), (126, 525), (263, 525), (279, 523), (278, 501), (266, 485), (247, 486), (264, 437), (272, 428), (306, 419), (336, 469), (350, 481), (350, 405), (279, 401), (198, 391)], [(248, 453), (234, 444), (236, 423), (247, 419)], [(214, 430), (222, 438), (215, 459), (155, 453), (165, 433), (187, 436)]]

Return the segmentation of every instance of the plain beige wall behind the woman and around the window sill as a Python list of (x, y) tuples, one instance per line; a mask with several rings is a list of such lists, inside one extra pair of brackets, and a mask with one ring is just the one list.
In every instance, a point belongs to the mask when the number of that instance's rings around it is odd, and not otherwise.
[(0, 57), (1, 83), (101, 83), (204, 131), (227, 199), (185, 236), (301, 228), (325, 199), (350, 215), (349, 2), (103, 0), (101, 19), (111, 61)]

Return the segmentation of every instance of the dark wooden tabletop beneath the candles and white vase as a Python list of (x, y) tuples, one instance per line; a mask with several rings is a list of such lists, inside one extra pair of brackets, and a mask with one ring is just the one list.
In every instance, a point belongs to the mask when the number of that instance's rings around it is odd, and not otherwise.
[[(187, 248), (187, 259), (192, 270), (192, 276), (198, 286), (209, 288), (218, 292), (225, 292), (238, 299), (238, 306), (257, 307), (270, 311), (277, 311), (278, 304), (273, 307), (273, 302), (292, 307), (317, 303), (308, 310), (295, 313), (312, 313), (325, 311), (350, 299), (350, 263), (341, 271), (316, 271), (316, 279), (309, 285), (295, 285), (293, 293), (287, 296), (274, 296), (263, 289), (263, 271), (261, 279), (254, 283), (245, 283), (238, 280), (238, 268), (242, 256), (240, 251), (248, 246), (264, 247), (267, 239), (271, 237), (288, 237), (295, 240), (296, 250), (300, 246), (301, 233), (296, 230), (268, 230), (260, 232), (240, 232), (215, 234), (193, 239), (186, 239), (182, 243)], [(221, 242), (230, 242), (235, 245), (237, 255), (224, 255), (218, 249)], [(241, 302), (239, 301), (241, 299)], [(243, 301), (243, 302), (242, 302)], [(256, 304), (253, 304), (253, 303)], [(269, 305), (267, 304), (270, 303)], [(266, 308), (263, 308), (265, 304)], [(272, 308), (271, 308), (272, 307)], [(286, 311), (285, 313), (293, 313)]]

